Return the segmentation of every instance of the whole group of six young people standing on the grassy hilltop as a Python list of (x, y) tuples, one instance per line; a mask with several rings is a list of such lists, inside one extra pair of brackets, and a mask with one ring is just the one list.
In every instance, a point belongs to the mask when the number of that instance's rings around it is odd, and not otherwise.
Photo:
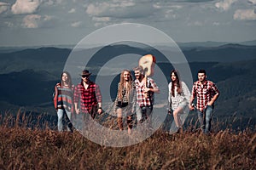
[[(120, 73), (117, 96), (114, 100), (114, 111), (117, 116), (117, 124), (120, 131), (124, 130), (123, 117), (126, 117), (128, 133), (131, 134), (133, 116), (137, 116), (137, 123), (150, 122), (154, 106), (154, 93), (160, 93), (160, 89), (150, 77), (145, 77), (143, 68), (137, 66), (133, 69), (136, 77), (133, 80), (131, 71), (123, 70)], [(58, 130), (63, 130), (62, 119), (67, 117), (67, 130), (73, 131), (70, 122), (72, 112), (91, 116), (102, 114), (102, 94), (99, 86), (90, 81), (90, 71), (84, 70), (81, 82), (75, 87), (67, 71), (61, 74), (61, 82), (55, 85), (55, 109), (58, 116)], [(170, 113), (178, 128), (177, 132), (183, 131), (183, 121), (180, 116), (185, 107), (190, 111), (196, 111), (203, 133), (209, 133), (211, 129), (212, 112), (214, 102), (218, 99), (219, 91), (215, 83), (207, 80), (205, 70), (198, 71), (198, 81), (194, 82), (192, 92), (180, 80), (176, 70), (171, 71), (169, 88)], [(139, 111), (137, 111), (139, 108)]]

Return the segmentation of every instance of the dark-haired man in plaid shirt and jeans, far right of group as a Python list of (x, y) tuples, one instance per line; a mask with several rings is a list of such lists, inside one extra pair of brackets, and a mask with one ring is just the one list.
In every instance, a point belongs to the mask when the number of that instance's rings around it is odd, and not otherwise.
[(210, 133), (214, 102), (218, 99), (219, 91), (215, 83), (207, 80), (205, 70), (198, 71), (197, 77), (198, 81), (194, 82), (192, 88), (189, 110), (195, 109), (192, 103), (196, 97), (196, 109), (201, 128), (203, 133)]

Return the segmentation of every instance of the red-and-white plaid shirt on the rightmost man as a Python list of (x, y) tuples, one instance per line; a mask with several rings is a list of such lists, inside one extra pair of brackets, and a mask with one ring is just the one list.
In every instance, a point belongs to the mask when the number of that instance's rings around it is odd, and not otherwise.
[(192, 96), (197, 97), (196, 109), (203, 111), (207, 107), (207, 103), (218, 93), (217, 86), (211, 81), (207, 80), (202, 85), (200, 81), (195, 82), (192, 88)]

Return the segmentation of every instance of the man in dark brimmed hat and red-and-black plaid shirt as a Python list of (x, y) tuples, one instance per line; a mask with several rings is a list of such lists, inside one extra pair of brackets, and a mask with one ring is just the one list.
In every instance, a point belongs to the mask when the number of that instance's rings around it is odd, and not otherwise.
[(95, 118), (96, 113), (102, 113), (102, 94), (99, 86), (90, 81), (90, 74), (87, 70), (82, 72), (82, 80), (74, 89), (73, 100), (77, 114), (89, 113)]

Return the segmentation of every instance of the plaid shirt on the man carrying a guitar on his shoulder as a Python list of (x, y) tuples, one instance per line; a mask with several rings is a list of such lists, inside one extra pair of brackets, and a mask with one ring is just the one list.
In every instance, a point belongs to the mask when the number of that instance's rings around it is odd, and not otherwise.
[[(147, 84), (148, 84), (148, 88), (158, 88), (152, 78), (148, 77)], [(145, 84), (144, 83), (142, 84), (136, 79), (135, 85), (136, 85), (136, 92), (137, 92), (137, 105), (141, 107), (154, 105), (154, 92), (151, 92), (151, 91), (148, 92), (149, 98), (146, 98), (144, 94)]]

